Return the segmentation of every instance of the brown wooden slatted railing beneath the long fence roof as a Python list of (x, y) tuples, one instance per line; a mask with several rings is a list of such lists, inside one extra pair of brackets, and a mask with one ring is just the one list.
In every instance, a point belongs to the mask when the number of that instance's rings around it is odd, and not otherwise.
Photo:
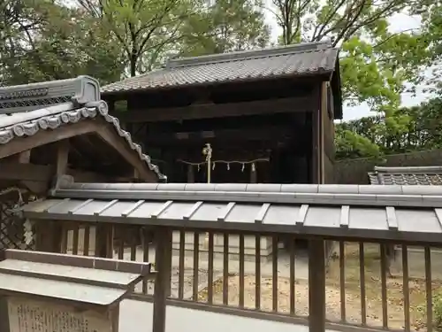
[[(163, 283), (156, 290), (165, 292), (155, 301), (168, 295), (168, 305), (309, 324), (312, 331), (433, 331), (442, 319), (442, 251), (423, 243), (63, 225), (61, 252), (154, 263)], [(133, 298), (153, 301), (154, 284), (142, 282)], [(163, 315), (156, 314), (154, 331), (164, 330)]]

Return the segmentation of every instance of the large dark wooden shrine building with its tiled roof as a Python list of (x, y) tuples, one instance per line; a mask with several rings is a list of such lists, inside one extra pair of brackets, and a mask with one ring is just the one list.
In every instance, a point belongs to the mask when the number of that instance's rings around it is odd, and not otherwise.
[(102, 94), (169, 182), (207, 182), (210, 143), (214, 183), (332, 183), (338, 53), (312, 42), (172, 59)]

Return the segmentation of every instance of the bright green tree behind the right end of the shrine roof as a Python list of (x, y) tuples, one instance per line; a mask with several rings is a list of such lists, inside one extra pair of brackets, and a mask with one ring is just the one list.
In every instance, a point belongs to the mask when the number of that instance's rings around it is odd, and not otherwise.
[[(280, 42), (329, 39), (341, 46), (343, 93), (350, 104), (368, 102), (373, 110), (393, 112), (400, 105), (405, 81), (422, 81), (420, 66), (428, 63), (426, 35), (388, 30), (392, 14), (415, 11), (404, 0), (272, 0)], [(417, 3), (416, 3), (417, 4)], [(420, 10), (427, 8), (419, 2)]]

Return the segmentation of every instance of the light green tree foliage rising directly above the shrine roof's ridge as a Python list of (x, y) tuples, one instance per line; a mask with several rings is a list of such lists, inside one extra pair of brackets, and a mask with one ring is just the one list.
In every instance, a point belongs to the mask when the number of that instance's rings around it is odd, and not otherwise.
[(167, 58), (263, 47), (270, 29), (258, 0), (78, 0), (101, 19), (122, 50), (128, 74), (161, 66)]

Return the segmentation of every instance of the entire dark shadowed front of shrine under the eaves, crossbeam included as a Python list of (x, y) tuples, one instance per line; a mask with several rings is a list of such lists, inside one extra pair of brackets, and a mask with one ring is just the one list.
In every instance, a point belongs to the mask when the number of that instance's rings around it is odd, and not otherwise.
[[(311, 108), (309, 111), (301, 101), (308, 97), (311, 103), (318, 102), (319, 96), (314, 93), (318, 83), (317, 77), (285, 78), (155, 89), (128, 95), (126, 109), (121, 109), (119, 101), (113, 109), (120, 120), (128, 120), (127, 129), (143, 143), (168, 181), (206, 182), (208, 169), (203, 164), (202, 149), (210, 143), (211, 182), (308, 183), (313, 181), (313, 119)], [(293, 98), (290, 112), (279, 112), (280, 98)], [(296, 98), (300, 98), (299, 103)], [(217, 112), (215, 117), (196, 117), (191, 112), (194, 104), (228, 108), (251, 101), (276, 103), (254, 115), (239, 111), (233, 116)], [(167, 119), (168, 110), (177, 107), (182, 108), (182, 117)], [(135, 114), (154, 118), (144, 121)]]

